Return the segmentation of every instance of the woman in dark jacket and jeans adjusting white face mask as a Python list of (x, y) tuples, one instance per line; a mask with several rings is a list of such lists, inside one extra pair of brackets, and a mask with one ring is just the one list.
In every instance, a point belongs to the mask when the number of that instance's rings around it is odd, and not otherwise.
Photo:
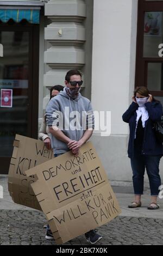
[(151, 188), (149, 210), (159, 209), (157, 198), (161, 179), (159, 163), (163, 155), (162, 143), (156, 139), (153, 124), (161, 120), (162, 105), (149, 94), (146, 87), (136, 88), (133, 102), (123, 114), (122, 119), (129, 124), (130, 136), (128, 156), (133, 170), (135, 200), (129, 208), (141, 206), (145, 169)]

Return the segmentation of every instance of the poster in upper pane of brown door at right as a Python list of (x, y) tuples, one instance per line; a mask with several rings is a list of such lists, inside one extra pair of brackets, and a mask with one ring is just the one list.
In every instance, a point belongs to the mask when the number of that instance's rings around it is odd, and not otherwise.
[(147, 11), (145, 13), (144, 35), (161, 36), (161, 11)]

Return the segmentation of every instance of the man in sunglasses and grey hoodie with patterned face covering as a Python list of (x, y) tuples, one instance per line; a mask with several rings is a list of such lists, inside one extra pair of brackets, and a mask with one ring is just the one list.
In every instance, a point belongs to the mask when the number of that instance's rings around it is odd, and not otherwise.
[[(52, 148), (55, 157), (70, 150), (74, 156), (78, 156), (80, 147), (92, 135), (93, 109), (90, 100), (79, 93), (82, 84), (82, 74), (78, 70), (68, 71), (65, 77), (64, 91), (52, 99), (46, 108), (46, 121), (49, 132), (53, 135)], [(56, 193), (59, 197), (61, 192)], [(91, 244), (102, 239), (102, 236), (95, 230), (87, 232), (85, 237)], [(49, 228), (46, 239), (53, 239)]]

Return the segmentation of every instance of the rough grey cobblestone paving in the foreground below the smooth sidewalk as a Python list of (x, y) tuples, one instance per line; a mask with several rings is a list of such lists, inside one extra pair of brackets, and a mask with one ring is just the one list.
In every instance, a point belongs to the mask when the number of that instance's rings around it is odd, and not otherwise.
[[(0, 245), (55, 245), (45, 239), (42, 212), (0, 210)], [(163, 220), (154, 218), (117, 217), (98, 229), (103, 239), (98, 245), (163, 245)], [(88, 245), (79, 236), (65, 245)]]

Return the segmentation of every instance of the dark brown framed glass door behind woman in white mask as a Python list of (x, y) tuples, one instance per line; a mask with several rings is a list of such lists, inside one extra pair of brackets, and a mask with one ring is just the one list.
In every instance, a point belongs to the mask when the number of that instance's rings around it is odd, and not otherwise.
[(135, 87), (147, 87), (163, 102), (163, 1), (139, 0)]

